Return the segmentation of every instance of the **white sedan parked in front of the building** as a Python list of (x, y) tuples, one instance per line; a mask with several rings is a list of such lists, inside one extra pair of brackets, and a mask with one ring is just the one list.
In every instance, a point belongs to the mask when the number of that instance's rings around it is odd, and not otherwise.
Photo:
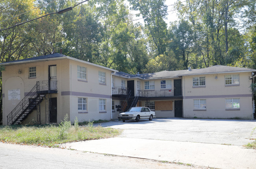
[(155, 112), (151, 111), (148, 107), (131, 107), (127, 112), (120, 113), (118, 118), (123, 122), (126, 120), (149, 119), (152, 120), (156, 117)]

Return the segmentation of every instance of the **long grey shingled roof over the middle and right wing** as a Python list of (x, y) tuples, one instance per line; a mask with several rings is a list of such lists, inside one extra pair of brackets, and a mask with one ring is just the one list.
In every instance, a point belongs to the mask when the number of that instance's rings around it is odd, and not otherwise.
[(161, 71), (156, 73), (144, 73), (139, 75), (131, 75), (129, 73), (117, 72), (115, 75), (122, 76), (124, 78), (132, 79), (165, 79), (174, 78), (188, 75), (206, 75), (206, 74), (217, 74), (217, 73), (238, 73), (238, 72), (256, 72), (255, 69), (249, 68), (237, 68), (231, 66), (215, 65), (208, 68), (191, 69), (189, 70), (174, 70), (174, 71)]

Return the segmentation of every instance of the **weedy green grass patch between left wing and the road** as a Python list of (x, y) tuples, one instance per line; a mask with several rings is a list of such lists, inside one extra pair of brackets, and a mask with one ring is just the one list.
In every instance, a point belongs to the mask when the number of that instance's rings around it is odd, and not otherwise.
[(59, 125), (11, 125), (0, 127), (0, 141), (28, 145), (58, 147), (58, 144), (71, 141), (110, 138), (120, 134), (120, 130), (94, 127), (92, 122), (78, 126), (78, 121), (71, 125), (64, 119)]

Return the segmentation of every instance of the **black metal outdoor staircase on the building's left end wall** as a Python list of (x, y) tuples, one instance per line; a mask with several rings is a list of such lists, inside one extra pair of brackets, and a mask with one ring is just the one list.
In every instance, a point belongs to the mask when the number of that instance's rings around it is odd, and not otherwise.
[(28, 92), (20, 103), (7, 115), (7, 124), (20, 124), (43, 101), (44, 95), (39, 94), (39, 82)]

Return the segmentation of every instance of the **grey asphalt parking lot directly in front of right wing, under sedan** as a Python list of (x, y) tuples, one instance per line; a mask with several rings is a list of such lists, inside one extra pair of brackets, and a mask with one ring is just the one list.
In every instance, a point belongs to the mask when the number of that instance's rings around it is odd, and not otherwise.
[(245, 145), (256, 139), (256, 120), (156, 118), (152, 121), (111, 121), (102, 127), (124, 129), (119, 137)]

